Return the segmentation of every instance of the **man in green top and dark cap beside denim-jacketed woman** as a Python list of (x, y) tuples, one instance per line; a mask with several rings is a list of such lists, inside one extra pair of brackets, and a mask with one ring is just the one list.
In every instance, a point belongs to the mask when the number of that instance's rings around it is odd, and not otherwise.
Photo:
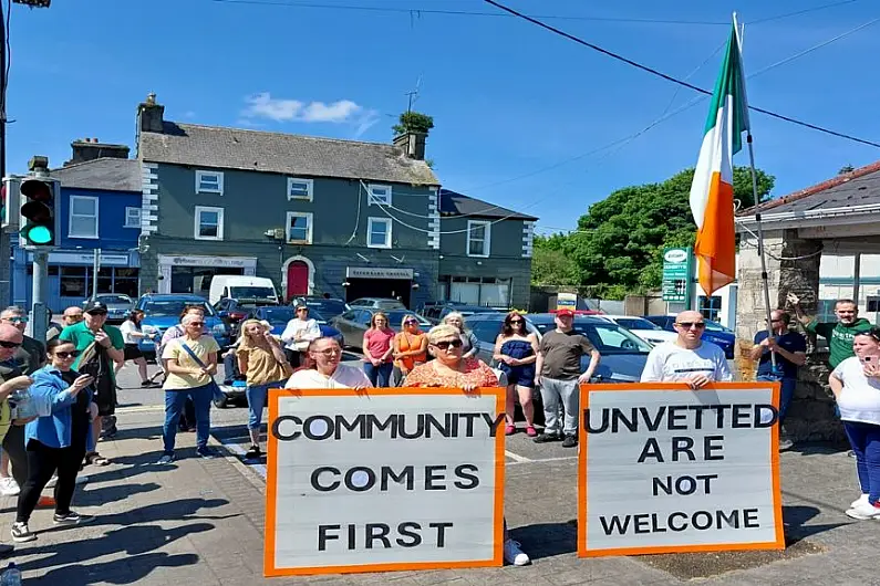
[(97, 405), (97, 417), (92, 422), (90, 450), (85, 454), (86, 464), (107, 465), (110, 460), (97, 453), (97, 439), (104, 419), (111, 423), (107, 437), (115, 433), (114, 414), (116, 412), (116, 366), (125, 360), (123, 348), (125, 342), (122, 332), (115, 325), (107, 324), (107, 306), (100, 300), (89, 300), (83, 307), (85, 320), (65, 327), (59, 339), (71, 342), (80, 350), (73, 363), (73, 369), (94, 377), (94, 402)]

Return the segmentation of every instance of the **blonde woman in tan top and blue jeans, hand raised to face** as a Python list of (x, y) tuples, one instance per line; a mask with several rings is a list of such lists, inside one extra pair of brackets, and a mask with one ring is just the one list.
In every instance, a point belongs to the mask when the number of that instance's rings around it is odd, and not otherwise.
[(271, 328), (259, 320), (247, 320), (241, 324), (241, 335), (238, 338), (238, 369), (245, 375), (248, 399), (248, 433), (250, 435), (250, 449), (245, 459), (259, 459), (260, 425), (262, 423), (262, 408), (266, 406), (270, 388), (283, 388), (284, 381), (293, 372), (284, 356), (284, 349), (272, 335)]

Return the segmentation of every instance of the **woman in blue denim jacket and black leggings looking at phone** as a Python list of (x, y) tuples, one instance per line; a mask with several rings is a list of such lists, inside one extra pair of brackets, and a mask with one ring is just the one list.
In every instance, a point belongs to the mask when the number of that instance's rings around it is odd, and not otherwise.
[(49, 364), (34, 373), (31, 397), (35, 402), (48, 406), (49, 412), (29, 422), (24, 430), (28, 480), (21, 488), (12, 525), (12, 541), (17, 543), (37, 538), (28, 523), (40, 500), (40, 492), (55, 472), (54, 525), (79, 525), (93, 520), (70, 509), (76, 475), (92, 432), (93, 378), (72, 368), (80, 356), (73, 343), (54, 338), (49, 341), (46, 348)]

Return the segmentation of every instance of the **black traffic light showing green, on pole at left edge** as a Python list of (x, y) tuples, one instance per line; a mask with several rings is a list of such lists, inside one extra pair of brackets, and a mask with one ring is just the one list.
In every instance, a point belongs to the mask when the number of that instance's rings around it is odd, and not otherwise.
[(59, 243), (59, 181), (49, 177), (22, 179), (20, 245), (54, 247)]

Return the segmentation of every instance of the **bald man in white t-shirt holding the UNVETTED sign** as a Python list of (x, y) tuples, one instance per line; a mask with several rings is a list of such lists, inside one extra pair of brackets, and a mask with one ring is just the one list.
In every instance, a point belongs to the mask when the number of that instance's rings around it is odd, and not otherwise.
[(664, 342), (648, 355), (642, 383), (687, 383), (698, 389), (713, 380), (733, 380), (727, 359), (719, 346), (703, 342), (706, 322), (700, 312), (675, 316), (675, 342)]

